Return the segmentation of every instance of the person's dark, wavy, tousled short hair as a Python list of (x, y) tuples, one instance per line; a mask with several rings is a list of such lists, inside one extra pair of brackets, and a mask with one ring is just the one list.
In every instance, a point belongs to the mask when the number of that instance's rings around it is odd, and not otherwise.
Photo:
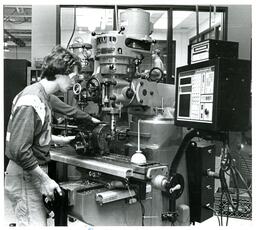
[(41, 78), (54, 81), (56, 74), (68, 75), (73, 72), (75, 66), (78, 70), (81, 69), (79, 57), (61, 46), (56, 46), (44, 58)]

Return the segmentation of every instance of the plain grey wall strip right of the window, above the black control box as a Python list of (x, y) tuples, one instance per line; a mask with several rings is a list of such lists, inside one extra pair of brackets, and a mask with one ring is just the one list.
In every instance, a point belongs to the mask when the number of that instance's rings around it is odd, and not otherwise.
[(251, 59), (252, 9), (250, 5), (228, 5), (228, 40), (239, 42), (239, 58)]

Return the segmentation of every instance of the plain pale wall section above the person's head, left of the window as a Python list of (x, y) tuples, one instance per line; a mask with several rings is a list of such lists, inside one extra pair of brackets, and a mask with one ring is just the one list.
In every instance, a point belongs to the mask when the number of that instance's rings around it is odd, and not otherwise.
[(32, 5), (31, 60), (42, 60), (56, 45), (56, 5)]

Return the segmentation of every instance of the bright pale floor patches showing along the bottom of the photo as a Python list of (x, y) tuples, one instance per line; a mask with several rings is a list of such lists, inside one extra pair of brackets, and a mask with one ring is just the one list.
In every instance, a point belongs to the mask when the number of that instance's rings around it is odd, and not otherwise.
[[(8, 227), (10, 226), (10, 224), (15, 223), (15, 218), (14, 218), (14, 214), (13, 214), (13, 210), (10, 204), (10, 201), (8, 200), (7, 197), (5, 197), (5, 208), (4, 208), (4, 227)], [(223, 222), (224, 224), (226, 223), (226, 218), (223, 218)], [(242, 227), (242, 228), (250, 228), (252, 227), (252, 221), (248, 221), (248, 220), (243, 220), (243, 219), (235, 219), (235, 218), (229, 218), (229, 227)], [(53, 226), (53, 220), (49, 219), (48, 220), (48, 225), (49, 226)], [(216, 216), (213, 216), (212, 218), (204, 221), (203, 223), (196, 223), (196, 226), (202, 226), (202, 227), (207, 227), (207, 226), (211, 226), (211, 227), (218, 227), (218, 219)], [(75, 222), (68, 222), (68, 226), (69, 227), (88, 227), (88, 225), (86, 225), (83, 222), (80, 222), (78, 220), (76, 220)], [(87, 228), (85, 228), (87, 229)]]

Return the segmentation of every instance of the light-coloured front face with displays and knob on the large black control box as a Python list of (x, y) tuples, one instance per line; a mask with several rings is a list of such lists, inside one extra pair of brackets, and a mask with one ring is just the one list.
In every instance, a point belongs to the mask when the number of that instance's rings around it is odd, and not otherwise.
[(212, 123), (214, 68), (180, 73), (177, 119)]

